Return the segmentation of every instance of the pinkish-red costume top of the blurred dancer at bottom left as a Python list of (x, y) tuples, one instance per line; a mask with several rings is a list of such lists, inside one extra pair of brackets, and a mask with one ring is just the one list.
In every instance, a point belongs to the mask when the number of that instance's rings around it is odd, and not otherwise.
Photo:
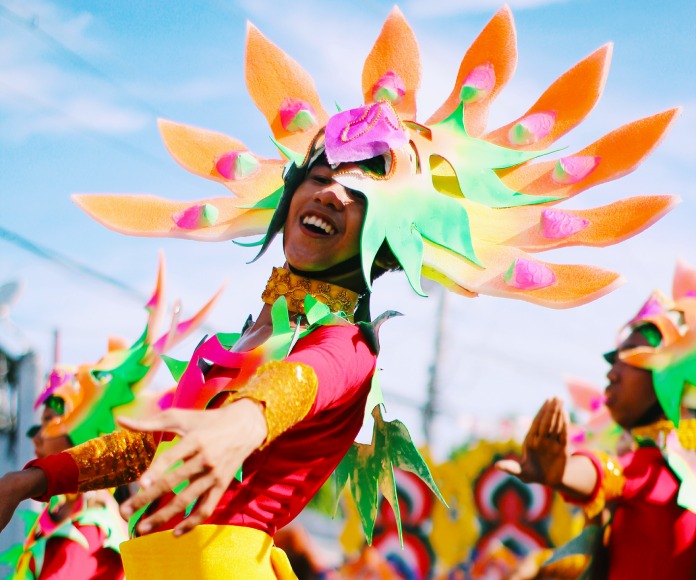
[[(119, 580), (124, 577), (121, 557), (103, 548), (105, 534), (96, 526), (75, 524), (89, 544), (85, 550), (77, 542), (51, 538), (39, 580)], [(33, 564), (32, 564), (33, 565)]]

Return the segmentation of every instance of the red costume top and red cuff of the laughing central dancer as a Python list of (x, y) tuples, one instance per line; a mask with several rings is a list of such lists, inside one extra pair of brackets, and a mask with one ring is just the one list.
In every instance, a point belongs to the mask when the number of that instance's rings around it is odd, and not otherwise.
[[(233, 480), (207, 524), (246, 526), (273, 535), (300, 513), (360, 431), (376, 355), (357, 326), (319, 327), (300, 339), (284, 360), (314, 369), (316, 400), (302, 421), (244, 462), (243, 481)], [(219, 378), (215, 368), (209, 377)], [(74, 480), (61, 475), (61, 464), (75, 474)], [(29, 465), (46, 472), (52, 493), (77, 489), (71, 456), (62, 453), (51, 462)], [(179, 521), (172, 519), (158, 530), (171, 529)]]

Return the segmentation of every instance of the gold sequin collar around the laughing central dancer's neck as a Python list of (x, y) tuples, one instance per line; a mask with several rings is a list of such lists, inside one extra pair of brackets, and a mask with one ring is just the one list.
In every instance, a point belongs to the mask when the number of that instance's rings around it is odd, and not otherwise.
[(326, 304), (331, 312), (352, 314), (358, 302), (357, 292), (321, 280), (303, 278), (283, 268), (273, 268), (261, 299), (266, 304), (273, 304), (280, 296), (285, 296), (290, 312), (304, 314), (304, 299), (307, 294)]

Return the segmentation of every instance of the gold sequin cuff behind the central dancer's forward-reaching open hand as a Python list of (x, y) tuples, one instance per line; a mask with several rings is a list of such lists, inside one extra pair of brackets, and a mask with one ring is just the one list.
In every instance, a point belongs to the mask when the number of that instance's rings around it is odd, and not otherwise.
[(231, 393), (224, 405), (248, 398), (264, 406), (268, 435), (261, 446), (263, 449), (307, 416), (316, 399), (318, 386), (312, 367), (303, 363), (271, 361), (261, 365), (246, 385)]

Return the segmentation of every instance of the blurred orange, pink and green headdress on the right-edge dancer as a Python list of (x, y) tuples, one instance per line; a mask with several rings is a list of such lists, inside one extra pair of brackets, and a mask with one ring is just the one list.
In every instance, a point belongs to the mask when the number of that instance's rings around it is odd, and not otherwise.
[(660, 336), (651, 346), (619, 353), (621, 360), (650, 369), (657, 400), (667, 418), (679, 426), (681, 407), (696, 409), (696, 268), (678, 261), (672, 297), (655, 291), (624, 327), (620, 337), (652, 324)]

